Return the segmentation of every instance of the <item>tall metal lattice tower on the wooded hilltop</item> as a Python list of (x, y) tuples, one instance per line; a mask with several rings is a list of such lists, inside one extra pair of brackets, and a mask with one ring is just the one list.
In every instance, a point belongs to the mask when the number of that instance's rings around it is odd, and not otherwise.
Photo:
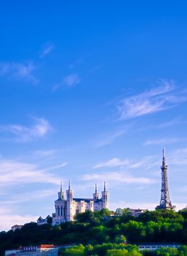
[(164, 149), (163, 149), (163, 158), (162, 158), (162, 189), (161, 189), (161, 200), (159, 206), (156, 209), (173, 209), (175, 206), (172, 206), (169, 194), (168, 187), (168, 178), (167, 178), (167, 164), (164, 157)]

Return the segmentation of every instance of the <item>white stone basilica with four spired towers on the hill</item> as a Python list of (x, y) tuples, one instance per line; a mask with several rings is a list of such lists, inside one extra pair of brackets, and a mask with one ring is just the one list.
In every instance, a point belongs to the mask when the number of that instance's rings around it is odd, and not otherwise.
[(92, 198), (75, 198), (73, 197), (73, 190), (69, 184), (65, 199), (65, 192), (63, 192), (61, 185), (60, 192), (58, 192), (58, 199), (55, 200), (55, 214), (52, 214), (52, 225), (60, 225), (62, 222), (73, 221), (76, 214), (85, 211), (108, 209), (108, 191), (106, 191), (106, 183), (104, 183), (104, 189), (101, 194), (99, 198), (97, 184), (95, 184), (95, 193), (93, 193)]

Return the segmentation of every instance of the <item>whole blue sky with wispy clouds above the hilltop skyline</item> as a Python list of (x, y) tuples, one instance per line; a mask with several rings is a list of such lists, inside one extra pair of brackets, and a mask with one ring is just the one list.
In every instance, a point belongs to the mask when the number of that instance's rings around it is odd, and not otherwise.
[(63, 181), (153, 209), (165, 148), (187, 205), (186, 1), (4, 1), (0, 230), (54, 212)]

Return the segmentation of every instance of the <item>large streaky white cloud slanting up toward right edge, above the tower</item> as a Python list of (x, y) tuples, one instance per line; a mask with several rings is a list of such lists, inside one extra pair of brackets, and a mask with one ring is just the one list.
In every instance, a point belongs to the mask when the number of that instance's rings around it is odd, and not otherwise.
[(174, 81), (161, 80), (160, 83), (161, 85), (154, 89), (122, 99), (118, 105), (120, 119), (167, 110), (187, 100), (183, 91), (178, 91)]

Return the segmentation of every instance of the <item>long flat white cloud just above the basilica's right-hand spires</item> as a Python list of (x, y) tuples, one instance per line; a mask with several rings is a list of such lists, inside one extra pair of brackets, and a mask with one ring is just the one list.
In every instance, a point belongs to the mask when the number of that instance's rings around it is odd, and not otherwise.
[(124, 183), (124, 184), (153, 184), (155, 181), (151, 178), (130, 176), (128, 173), (119, 172), (106, 172), (106, 173), (92, 173), (83, 176), (84, 181), (99, 181), (103, 180), (108, 183), (114, 184)]

